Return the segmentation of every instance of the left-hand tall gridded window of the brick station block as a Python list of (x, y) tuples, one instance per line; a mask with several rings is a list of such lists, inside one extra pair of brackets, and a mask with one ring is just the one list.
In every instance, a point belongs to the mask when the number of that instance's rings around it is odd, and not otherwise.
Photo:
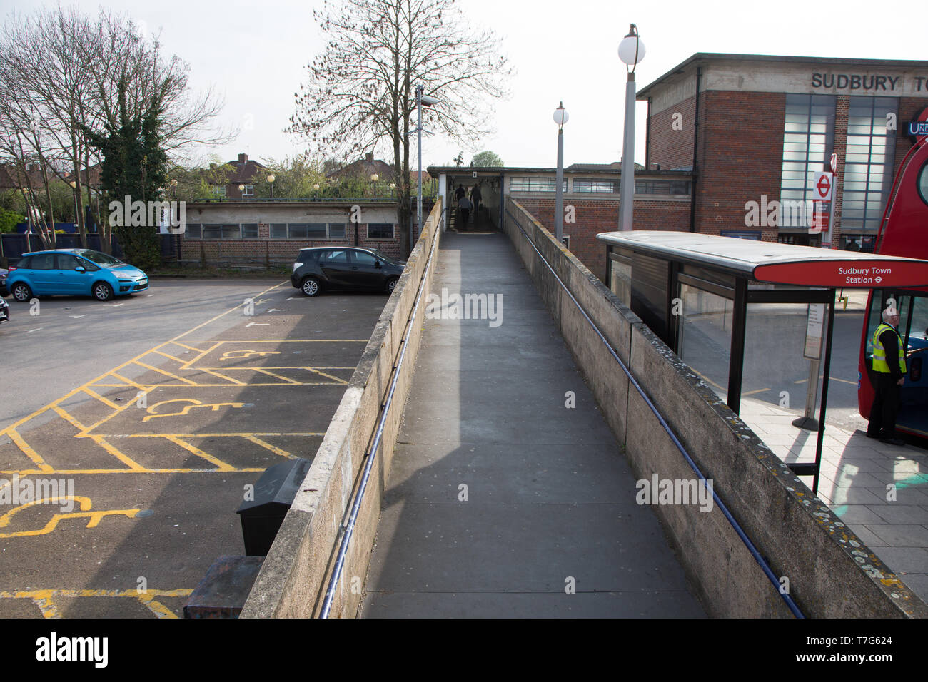
[[(780, 202), (802, 207), (811, 200), (815, 174), (824, 171), (834, 145), (833, 95), (787, 95)], [(757, 198), (755, 200), (760, 200)], [(780, 211), (780, 227), (809, 227), (808, 212)]]

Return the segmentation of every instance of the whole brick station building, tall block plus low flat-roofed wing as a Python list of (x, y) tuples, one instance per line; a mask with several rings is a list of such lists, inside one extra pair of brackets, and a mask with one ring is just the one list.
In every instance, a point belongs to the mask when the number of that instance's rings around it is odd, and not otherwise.
[[(638, 99), (648, 116), (638, 121), (647, 144), (635, 174), (636, 229), (819, 246), (807, 209), (815, 174), (830, 170), (834, 154), (832, 248), (870, 251), (914, 141), (909, 123), (928, 120), (928, 61), (697, 53)], [(429, 172), (452, 206), (458, 184), (479, 183), (495, 225), (511, 197), (553, 231), (554, 168)], [(618, 163), (564, 169), (572, 212), (564, 235), (602, 279), (596, 235), (618, 228), (620, 180)]]

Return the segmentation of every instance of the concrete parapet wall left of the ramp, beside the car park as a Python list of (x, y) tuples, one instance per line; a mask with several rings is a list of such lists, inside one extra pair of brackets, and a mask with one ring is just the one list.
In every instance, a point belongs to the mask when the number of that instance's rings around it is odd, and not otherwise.
[[(428, 296), (431, 287), (434, 268), (427, 277), (424, 274), (432, 251), (438, 248), (441, 211), (442, 202), (439, 201), (423, 226), (422, 236), (409, 256), (403, 276), (384, 306), (312, 466), (277, 532), (241, 611), (242, 618), (308, 618), (319, 614), (342, 538), (342, 523), (347, 521), (366, 462), (365, 454), (380, 419), (380, 405), (386, 400), (393, 365), (402, 350), (406, 322), (419, 285), (424, 287), (423, 298)], [(393, 445), (416, 366), (425, 307), (420, 303), (416, 319), (410, 322), (412, 331), (393, 393), (393, 405), (358, 512), (330, 617), (354, 617), (360, 604), (380, 518), (384, 483), (390, 473)]]

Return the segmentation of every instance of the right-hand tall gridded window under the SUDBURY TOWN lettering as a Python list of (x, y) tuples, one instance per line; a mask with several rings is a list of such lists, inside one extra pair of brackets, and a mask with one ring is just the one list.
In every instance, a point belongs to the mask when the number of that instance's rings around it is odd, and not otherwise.
[(843, 230), (876, 232), (893, 184), (896, 131), (886, 115), (898, 115), (896, 97), (851, 97), (844, 157)]

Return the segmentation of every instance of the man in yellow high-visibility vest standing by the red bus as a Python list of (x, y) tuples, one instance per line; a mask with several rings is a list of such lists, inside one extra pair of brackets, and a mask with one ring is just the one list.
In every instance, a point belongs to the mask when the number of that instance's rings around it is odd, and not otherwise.
[(896, 412), (906, 380), (906, 346), (896, 330), (898, 327), (899, 311), (890, 303), (883, 311), (883, 324), (876, 328), (871, 340), (876, 395), (870, 407), (867, 436), (879, 438), (882, 443), (905, 445), (905, 441), (896, 437)]

